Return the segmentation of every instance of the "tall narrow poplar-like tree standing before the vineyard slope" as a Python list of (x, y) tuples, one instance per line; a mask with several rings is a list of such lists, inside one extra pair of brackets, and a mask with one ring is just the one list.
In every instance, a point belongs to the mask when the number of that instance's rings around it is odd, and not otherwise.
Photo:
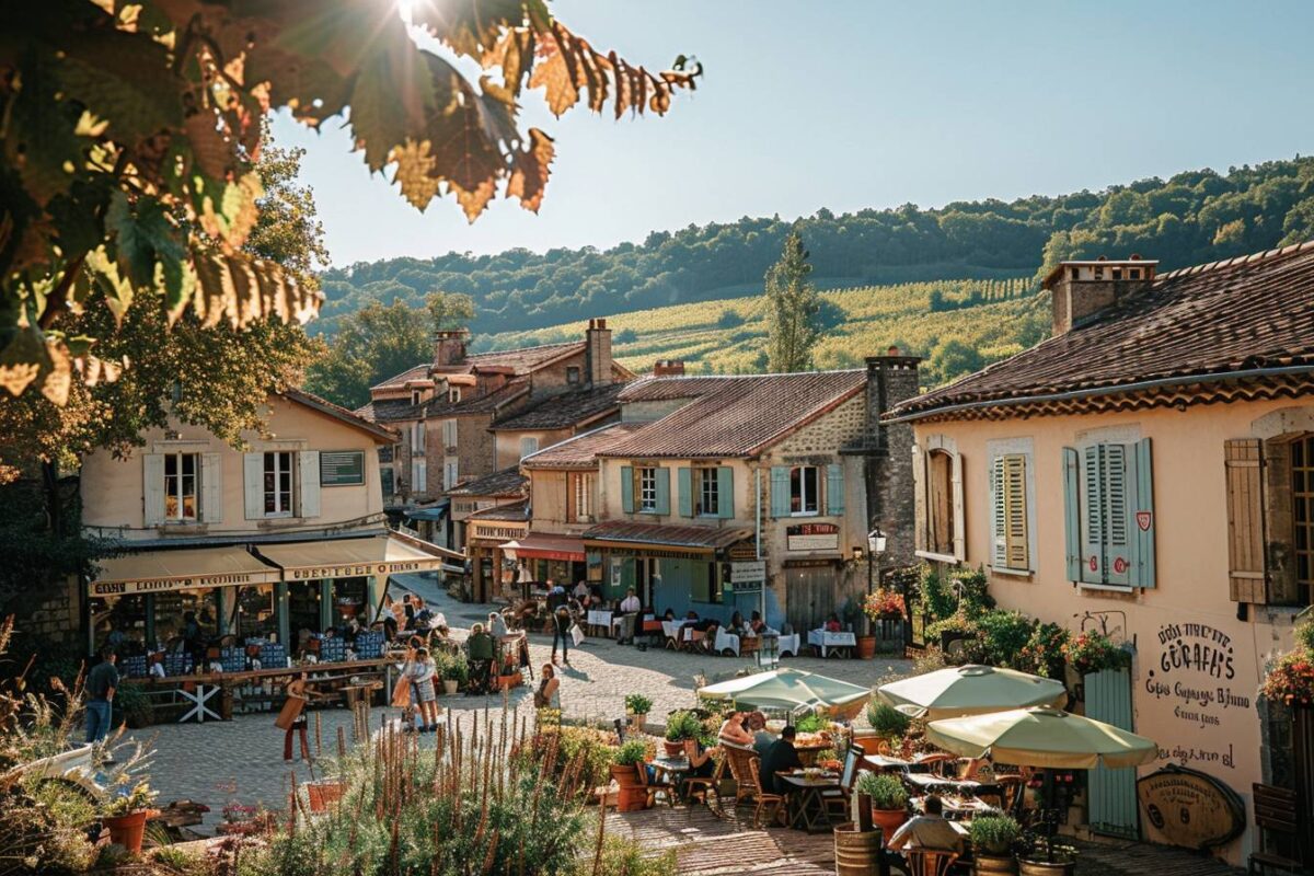
[(821, 298), (808, 282), (812, 265), (798, 229), (784, 238), (781, 260), (766, 272), (767, 368), (804, 372), (821, 339)]

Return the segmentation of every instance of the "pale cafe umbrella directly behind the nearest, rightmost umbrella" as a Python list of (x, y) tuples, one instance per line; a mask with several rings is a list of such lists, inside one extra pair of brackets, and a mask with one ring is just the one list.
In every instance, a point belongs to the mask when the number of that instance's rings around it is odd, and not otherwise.
[(876, 688), (876, 695), (905, 714), (930, 721), (1029, 705), (1062, 708), (1067, 703), (1062, 682), (976, 665), (951, 666), (891, 682)]

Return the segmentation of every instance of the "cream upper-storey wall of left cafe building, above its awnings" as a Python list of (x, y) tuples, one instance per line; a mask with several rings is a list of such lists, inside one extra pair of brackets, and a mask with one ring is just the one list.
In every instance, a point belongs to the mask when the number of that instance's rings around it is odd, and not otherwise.
[[(247, 520), (242, 489), (242, 453), (215, 439), (205, 429), (172, 423), (181, 440), (167, 441), (164, 429), (143, 435), (145, 447), (135, 448), (126, 460), (116, 460), (99, 450), (88, 454), (81, 466), (83, 525), (104, 528), (106, 535), (127, 540), (158, 538), (177, 533), (217, 536), (234, 532), (280, 532), (322, 529), (363, 517), (374, 519), (382, 512), (378, 481), (378, 453), (373, 437), (342, 420), (314, 411), (281, 397), (271, 397), (268, 407), (269, 439), (243, 433), (248, 452), (263, 450), (364, 450), (365, 483), (361, 486), (322, 487), (321, 514), (317, 517), (280, 517)], [(145, 527), (143, 453), (219, 453), (222, 460), (223, 520), (215, 524), (177, 524)]]

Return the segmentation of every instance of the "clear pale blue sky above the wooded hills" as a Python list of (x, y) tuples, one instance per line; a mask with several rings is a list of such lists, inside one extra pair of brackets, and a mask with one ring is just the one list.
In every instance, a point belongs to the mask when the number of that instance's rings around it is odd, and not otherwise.
[(557, 141), (539, 215), (420, 214), (336, 121), (309, 148), (335, 265), (597, 246), (779, 213), (1099, 189), (1314, 151), (1314, 3), (556, 0), (597, 47), (706, 76), (665, 118), (526, 118)]

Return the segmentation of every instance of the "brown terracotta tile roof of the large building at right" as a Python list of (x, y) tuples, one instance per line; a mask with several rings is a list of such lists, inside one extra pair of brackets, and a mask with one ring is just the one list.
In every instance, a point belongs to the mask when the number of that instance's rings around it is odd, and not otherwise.
[(1092, 322), (908, 399), (887, 418), (1306, 365), (1314, 369), (1314, 242), (1159, 274)]

